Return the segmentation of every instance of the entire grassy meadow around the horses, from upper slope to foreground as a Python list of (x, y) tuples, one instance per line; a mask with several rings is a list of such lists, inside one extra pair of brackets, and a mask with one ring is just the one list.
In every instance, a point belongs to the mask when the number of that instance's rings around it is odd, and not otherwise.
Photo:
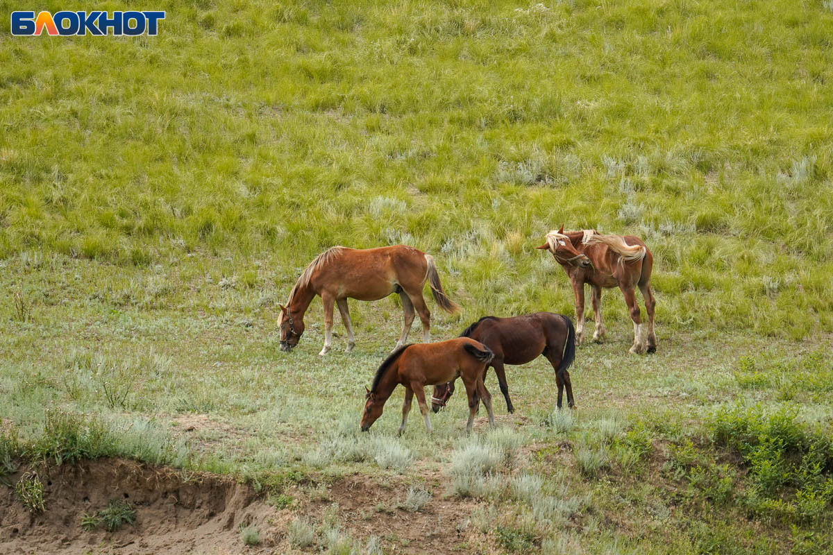
[[(22, 468), (118, 456), (255, 484), (289, 515), (275, 553), (421, 553), (367, 532), (390, 512), (456, 529), (447, 553), (828, 553), (831, 2), (137, 8), (166, 10), (157, 37), (12, 37), (14, 10), (92, 8), (0, 0), (10, 492)], [(318, 302), (278, 350), (277, 304), (332, 245), (434, 255), (462, 306), (428, 301), (435, 339), (573, 317), (535, 250), (562, 223), (655, 257), (657, 354), (627, 354), (607, 291), (572, 413), (538, 359), (508, 370), (516, 414), (490, 374), (495, 430), (481, 409), (466, 438), (458, 389), (431, 436), (412, 413), (397, 439), (401, 393), (360, 434), (393, 299), (351, 302), (352, 355), (337, 322), (316, 356)], [(362, 528), (311, 508), (345, 477), (411, 489)]]

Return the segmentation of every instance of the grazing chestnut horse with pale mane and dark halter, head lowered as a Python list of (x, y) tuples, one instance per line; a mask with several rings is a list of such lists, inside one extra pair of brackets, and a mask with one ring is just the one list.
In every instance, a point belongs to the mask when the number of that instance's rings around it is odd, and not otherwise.
[(453, 314), (459, 307), (442, 290), (440, 276), (431, 255), (412, 246), (395, 245), (378, 249), (348, 249), (334, 246), (317, 255), (289, 293), (287, 306), (281, 306), (278, 325), (281, 328), (281, 350), (288, 351), (298, 344), (304, 333), (304, 313), (320, 295), (324, 304), (324, 347), (319, 355), (332, 347), (332, 305), (338, 305), (342, 322), (347, 328), (347, 352), (356, 345), (347, 299), (379, 300), (392, 293), (402, 299), (405, 325), (397, 341), (401, 347), (408, 339), (414, 321), (414, 309), (422, 321), (422, 340), (431, 341), (431, 312), (422, 298), (425, 282), (431, 286), (436, 304)]

